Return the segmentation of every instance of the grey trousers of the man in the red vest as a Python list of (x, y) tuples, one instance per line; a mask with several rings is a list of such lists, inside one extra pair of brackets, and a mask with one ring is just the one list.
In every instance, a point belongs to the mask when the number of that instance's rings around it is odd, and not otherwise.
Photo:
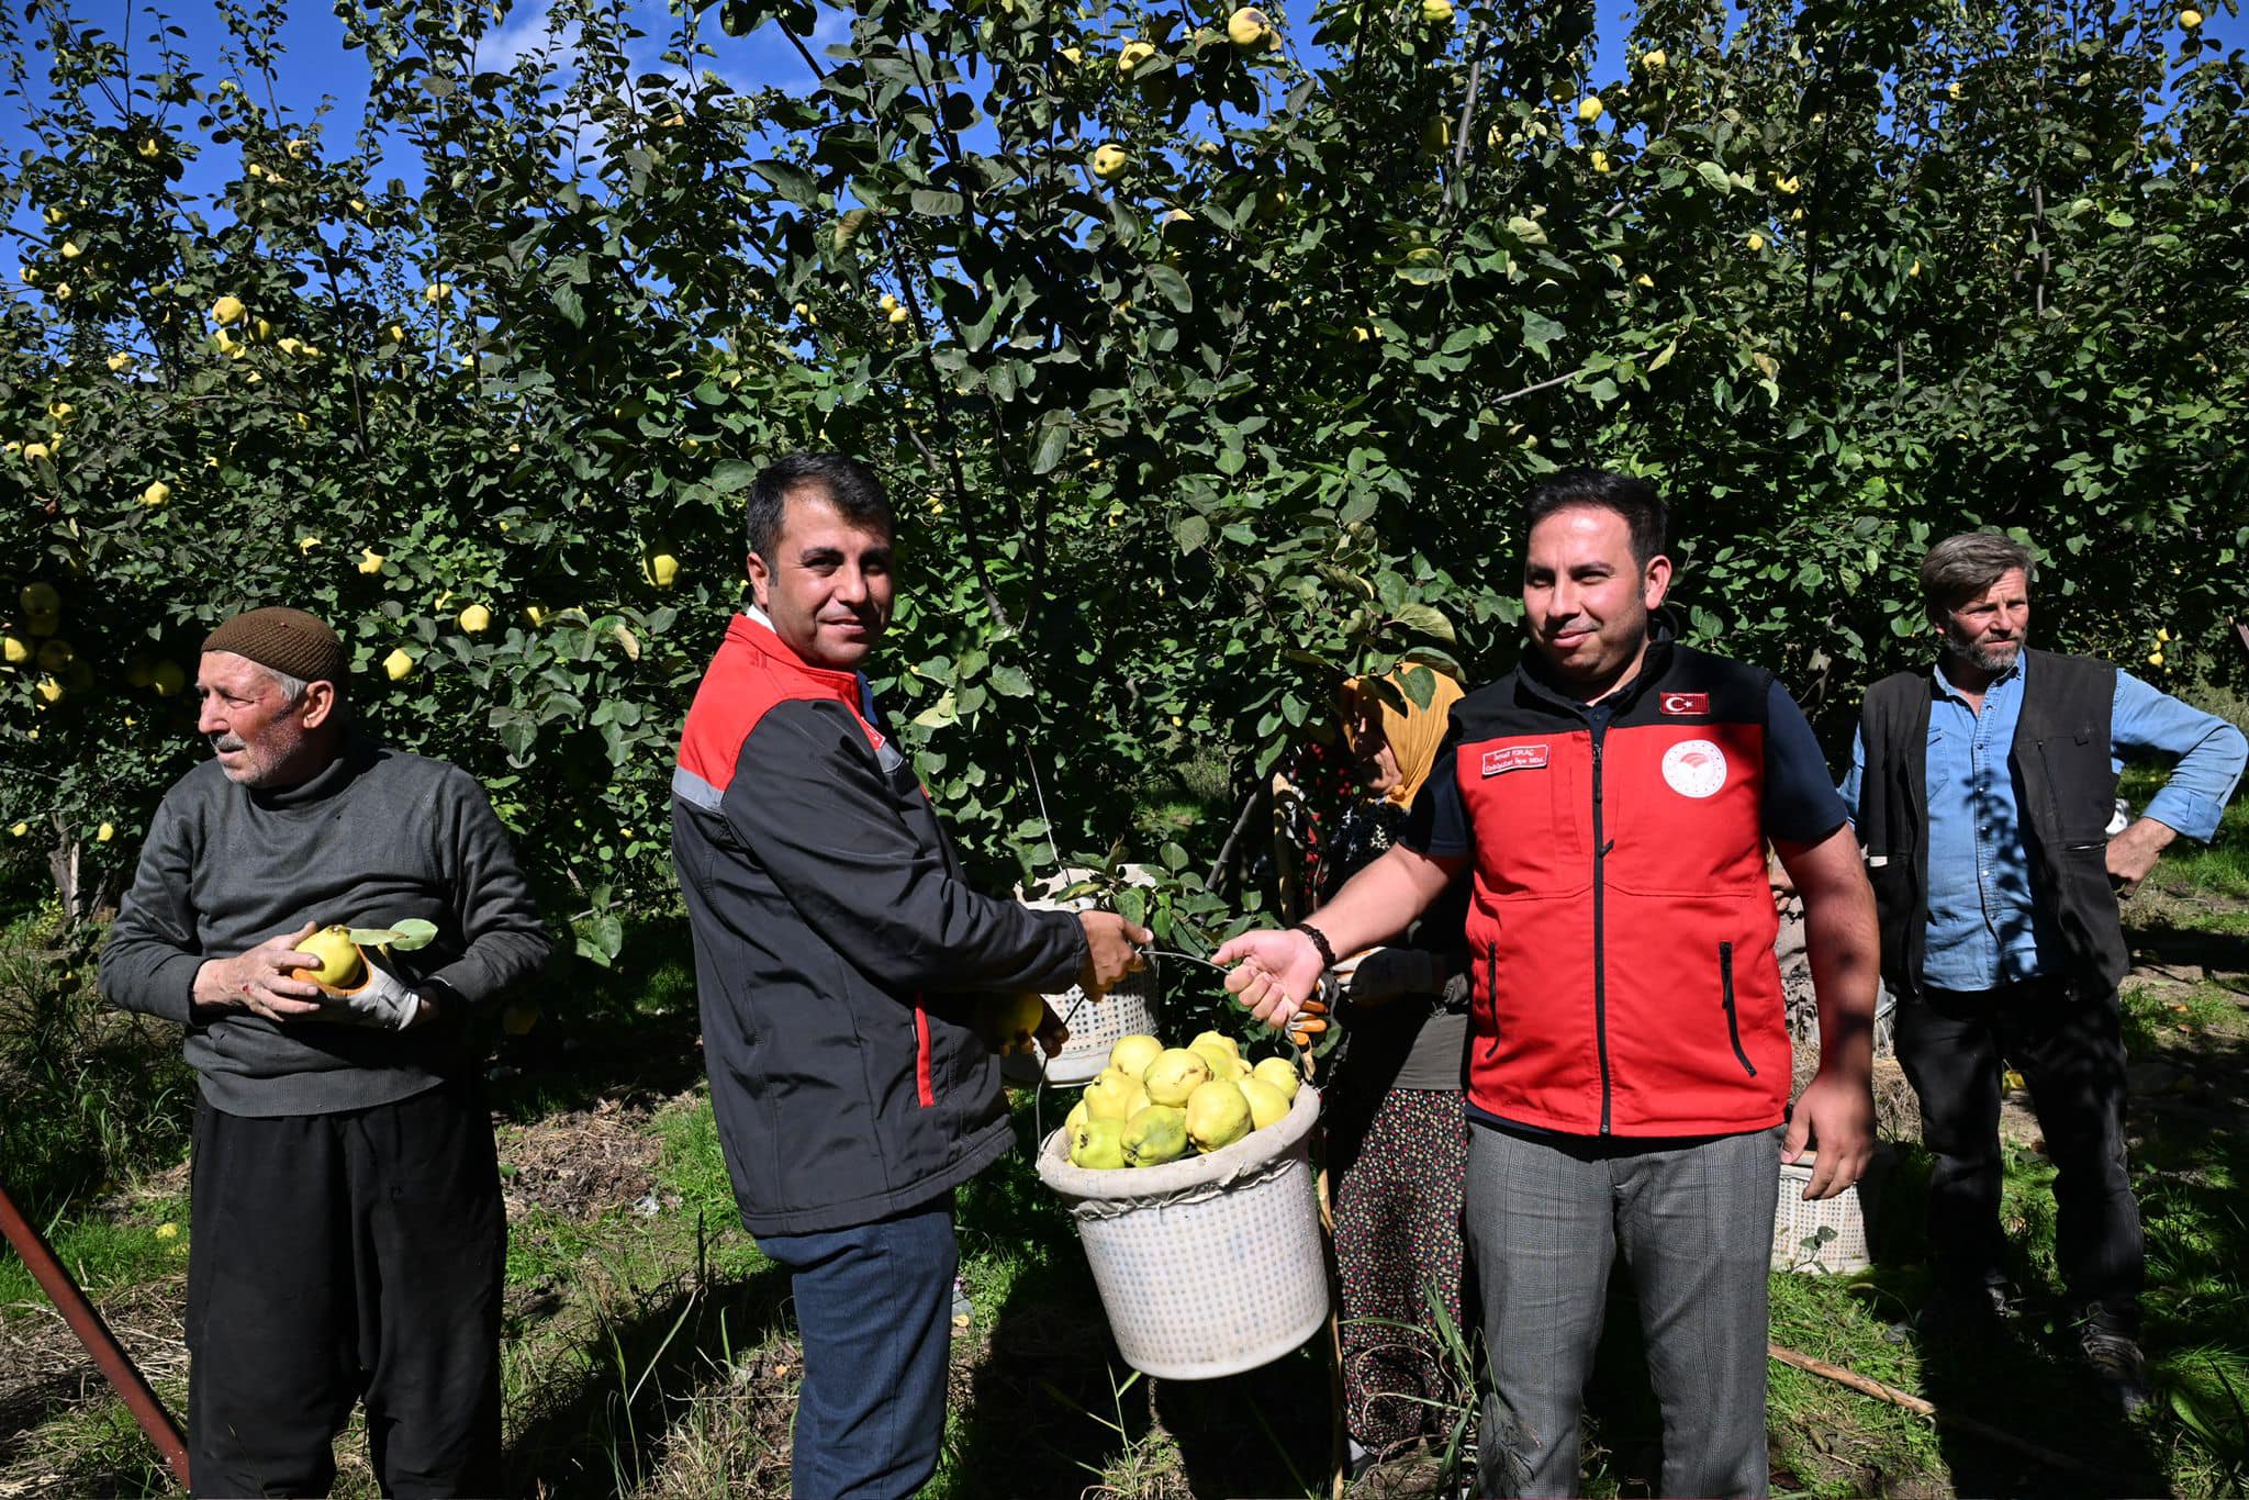
[(1696, 1145), (1469, 1131), (1466, 1230), (1493, 1392), (1482, 1496), (1574, 1496), (1617, 1248), (1664, 1415), (1662, 1496), (1763, 1496), (1765, 1268), (1783, 1127)]

